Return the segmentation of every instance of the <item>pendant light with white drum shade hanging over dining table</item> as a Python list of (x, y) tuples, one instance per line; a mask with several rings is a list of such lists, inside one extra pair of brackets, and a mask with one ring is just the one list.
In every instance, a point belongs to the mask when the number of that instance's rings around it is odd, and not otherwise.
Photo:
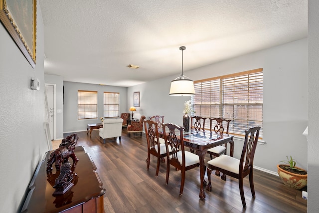
[(183, 51), (186, 47), (181, 46), (181, 75), (171, 81), (169, 95), (172, 96), (191, 96), (195, 95), (194, 82), (183, 74)]

